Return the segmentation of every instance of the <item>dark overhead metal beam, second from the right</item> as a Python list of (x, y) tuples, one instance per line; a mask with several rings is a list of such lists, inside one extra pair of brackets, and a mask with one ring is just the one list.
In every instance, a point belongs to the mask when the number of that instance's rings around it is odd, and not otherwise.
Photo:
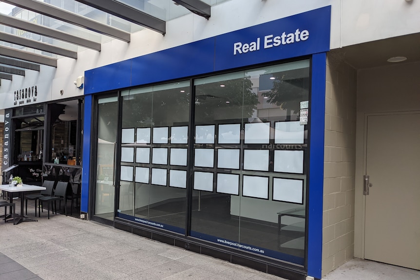
[(134, 22), (135, 24), (152, 29), (161, 34), (166, 33), (166, 22), (157, 19), (149, 14), (134, 9), (124, 3), (114, 0), (76, 0), (77, 2), (89, 5), (95, 9), (104, 11), (118, 18)]

